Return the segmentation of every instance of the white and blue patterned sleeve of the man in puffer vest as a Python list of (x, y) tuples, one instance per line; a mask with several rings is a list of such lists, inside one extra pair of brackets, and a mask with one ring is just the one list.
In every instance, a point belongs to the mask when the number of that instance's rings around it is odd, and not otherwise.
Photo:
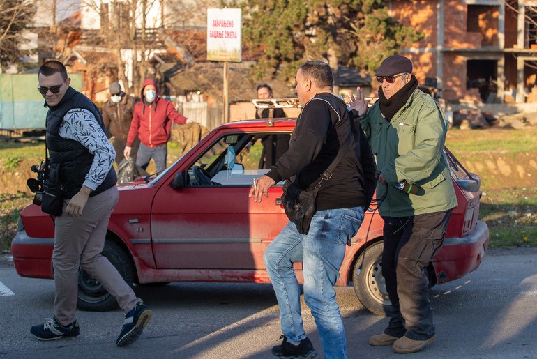
[(92, 190), (98, 188), (114, 165), (116, 151), (95, 116), (87, 109), (70, 109), (63, 116), (58, 134), (65, 139), (80, 142), (95, 156), (84, 185)]

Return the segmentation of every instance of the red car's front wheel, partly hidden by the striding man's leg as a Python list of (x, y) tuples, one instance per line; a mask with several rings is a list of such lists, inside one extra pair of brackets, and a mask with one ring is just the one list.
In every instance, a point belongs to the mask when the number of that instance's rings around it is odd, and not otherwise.
[[(128, 254), (119, 245), (109, 240), (105, 241), (102, 254), (116, 267), (123, 280), (132, 285), (134, 282), (134, 267)], [(114, 310), (117, 307), (116, 299), (108, 293), (103, 284), (80, 268), (78, 271), (77, 308), (93, 312), (105, 312)]]

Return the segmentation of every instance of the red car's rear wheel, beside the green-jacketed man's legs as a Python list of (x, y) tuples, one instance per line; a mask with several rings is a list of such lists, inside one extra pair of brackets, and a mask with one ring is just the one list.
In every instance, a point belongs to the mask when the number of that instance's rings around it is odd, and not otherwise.
[[(354, 264), (352, 284), (358, 300), (365, 309), (386, 316), (391, 311), (391, 303), (382, 275), (382, 248), (382, 242), (366, 247), (365, 252), (362, 252)], [(360, 266), (362, 266), (360, 275), (356, 275)]]

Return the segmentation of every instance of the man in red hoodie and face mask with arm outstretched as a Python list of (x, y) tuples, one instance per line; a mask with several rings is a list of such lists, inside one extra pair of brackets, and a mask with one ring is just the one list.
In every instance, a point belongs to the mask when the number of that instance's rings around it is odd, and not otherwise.
[(153, 158), (156, 172), (159, 174), (166, 169), (167, 142), (172, 129), (172, 121), (184, 125), (192, 120), (176, 112), (171, 101), (158, 97), (158, 88), (152, 79), (146, 79), (141, 95), (142, 101), (135, 105), (123, 155), (125, 158), (130, 157), (133, 142), (138, 136), (140, 146), (136, 164), (146, 169)]

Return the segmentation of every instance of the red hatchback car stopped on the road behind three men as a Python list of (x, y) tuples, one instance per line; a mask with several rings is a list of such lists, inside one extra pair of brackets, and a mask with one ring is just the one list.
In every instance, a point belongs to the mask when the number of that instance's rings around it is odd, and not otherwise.
[[(220, 125), (159, 176), (118, 185), (119, 203), (110, 218), (103, 254), (131, 284), (269, 283), (263, 252), (287, 217), (280, 201), (282, 183), (261, 203), (248, 199), (252, 180), (268, 171), (257, 169), (262, 144), (256, 139), (290, 135), (294, 125), (294, 119)], [(489, 241), (487, 224), (477, 220), (479, 178), (445, 152), (459, 205), (451, 215), (444, 246), (428, 268), (432, 285), (478, 268)], [(390, 305), (381, 273), (382, 223), (375, 208), (368, 208), (347, 247), (337, 282), (352, 282), (363, 306), (379, 315)], [(52, 278), (53, 245), (52, 218), (33, 204), (24, 208), (11, 245), (17, 273)], [(361, 274), (356, 275), (362, 261)], [(300, 282), (301, 268), (302, 263), (295, 264)], [(77, 305), (82, 310), (111, 310), (116, 301), (80, 270)]]

